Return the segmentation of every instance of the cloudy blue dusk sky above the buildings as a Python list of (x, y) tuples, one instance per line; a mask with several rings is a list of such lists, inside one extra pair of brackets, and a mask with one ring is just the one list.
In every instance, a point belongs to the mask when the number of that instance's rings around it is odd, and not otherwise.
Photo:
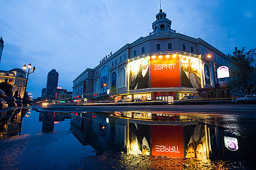
[[(234, 46), (256, 48), (256, 1), (161, 1), (172, 29), (201, 38), (224, 54)], [(58, 86), (72, 91), (87, 67), (152, 32), (159, 0), (0, 1), (0, 36), (5, 41), (1, 70), (36, 67), (28, 92), (41, 96), (47, 73), (56, 69)]]

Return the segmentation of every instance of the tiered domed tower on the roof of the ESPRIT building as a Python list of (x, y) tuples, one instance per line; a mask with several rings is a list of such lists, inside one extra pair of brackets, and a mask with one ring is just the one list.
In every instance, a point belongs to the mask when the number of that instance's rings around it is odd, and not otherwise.
[(171, 29), (171, 20), (166, 18), (165, 12), (163, 12), (161, 9), (159, 10), (159, 13), (156, 14), (156, 21), (153, 22), (152, 29), (154, 30), (154, 34), (162, 31), (170, 31), (175, 33), (175, 31)]

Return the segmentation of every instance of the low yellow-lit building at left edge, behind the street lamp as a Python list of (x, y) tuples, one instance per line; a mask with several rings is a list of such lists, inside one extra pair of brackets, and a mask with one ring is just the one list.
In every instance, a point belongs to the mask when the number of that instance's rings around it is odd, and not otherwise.
[(18, 97), (23, 97), (26, 86), (26, 73), (22, 69), (14, 68), (10, 71), (0, 70), (0, 82), (12, 85), (12, 93), (18, 91)]

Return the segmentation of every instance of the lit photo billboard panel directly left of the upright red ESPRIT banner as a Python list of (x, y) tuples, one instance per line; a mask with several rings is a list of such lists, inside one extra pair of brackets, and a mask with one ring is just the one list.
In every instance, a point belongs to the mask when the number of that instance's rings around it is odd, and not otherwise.
[(129, 63), (129, 89), (149, 88), (149, 57)]

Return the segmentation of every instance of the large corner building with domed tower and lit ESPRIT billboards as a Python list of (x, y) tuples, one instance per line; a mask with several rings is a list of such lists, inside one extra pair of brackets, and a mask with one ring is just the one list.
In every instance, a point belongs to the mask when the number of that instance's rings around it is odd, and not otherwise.
[[(148, 36), (111, 52), (95, 68), (85, 69), (73, 81), (73, 97), (95, 98), (115, 86), (116, 101), (173, 101), (215, 86), (217, 69), (232, 64), (232, 59), (211, 44), (173, 30), (161, 9), (152, 29)], [(228, 78), (224, 80), (228, 82)]]

